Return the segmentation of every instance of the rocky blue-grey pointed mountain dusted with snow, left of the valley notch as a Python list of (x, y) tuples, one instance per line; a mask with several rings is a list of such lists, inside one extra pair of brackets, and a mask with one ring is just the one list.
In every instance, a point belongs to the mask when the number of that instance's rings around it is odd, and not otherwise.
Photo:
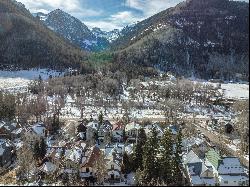
[(100, 51), (109, 45), (106, 38), (96, 37), (80, 20), (60, 9), (50, 12), (48, 15), (39, 13), (33, 15), (40, 17), (48, 28), (82, 49)]

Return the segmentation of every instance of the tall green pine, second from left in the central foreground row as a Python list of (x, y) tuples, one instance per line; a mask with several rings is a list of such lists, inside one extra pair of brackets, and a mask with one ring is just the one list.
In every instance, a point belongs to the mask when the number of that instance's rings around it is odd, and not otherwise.
[[(143, 147), (143, 171), (142, 171), (142, 182), (148, 184), (152, 179), (159, 177), (158, 173), (158, 138), (157, 131), (155, 128), (152, 130), (152, 136), (146, 141)], [(143, 185), (143, 184), (142, 184)]]

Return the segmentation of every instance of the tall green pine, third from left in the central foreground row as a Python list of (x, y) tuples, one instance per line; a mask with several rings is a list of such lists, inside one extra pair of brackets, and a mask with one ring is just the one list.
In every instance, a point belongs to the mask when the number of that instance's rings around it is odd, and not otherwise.
[(160, 177), (166, 184), (173, 182), (173, 138), (169, 129), (166, 129), (160, 148)]

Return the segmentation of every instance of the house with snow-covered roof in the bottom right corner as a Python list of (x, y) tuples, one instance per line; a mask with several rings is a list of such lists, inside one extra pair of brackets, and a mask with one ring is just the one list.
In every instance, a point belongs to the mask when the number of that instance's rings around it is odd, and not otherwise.
[(247, 170), (237, 157), (224, 157), (219, 161), (218, 173), (221, 186), (248, 186)]

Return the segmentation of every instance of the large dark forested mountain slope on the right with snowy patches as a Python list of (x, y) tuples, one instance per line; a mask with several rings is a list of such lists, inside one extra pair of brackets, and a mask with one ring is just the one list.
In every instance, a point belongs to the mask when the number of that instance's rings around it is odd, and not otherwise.
[(123, 63), (207, 79), (237, 73), (247, 79), (248, 39), (248, 3), (187, 0), (124, 28), (112, 47)]

